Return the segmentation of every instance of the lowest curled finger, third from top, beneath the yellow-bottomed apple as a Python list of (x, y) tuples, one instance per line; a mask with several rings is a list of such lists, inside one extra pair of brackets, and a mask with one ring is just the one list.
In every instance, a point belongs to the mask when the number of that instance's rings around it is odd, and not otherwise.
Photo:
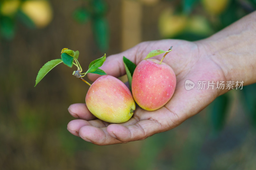
[(107, 128), (96, 128), (94, 126), (83, 126), (79, 130), (79, 136), (87, 142), (97, 145), (109, 145), (122, 143), (116, 138), (110, 136)]

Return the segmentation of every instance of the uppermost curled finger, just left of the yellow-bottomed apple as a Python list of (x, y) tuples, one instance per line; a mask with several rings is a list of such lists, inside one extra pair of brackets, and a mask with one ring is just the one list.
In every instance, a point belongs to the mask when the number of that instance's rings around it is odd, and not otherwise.
[(94, 115), (88, 110), (84, 103), (72, 104), (68, 107), (68, 112), (75, 118), (84, 120), (96, 119)]

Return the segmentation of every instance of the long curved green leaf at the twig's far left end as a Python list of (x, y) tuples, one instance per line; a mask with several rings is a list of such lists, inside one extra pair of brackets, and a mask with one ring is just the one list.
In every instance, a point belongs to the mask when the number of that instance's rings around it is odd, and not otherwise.
[[(39, 70), (36, 76), (36, 85), (44, 78), (44, 76), (51, 71), (56, 65), (62, 63), (61, 59), (51, 60), (44, 64), (44, 66)], [(35, 87), (36, 87), (35, 85)]]

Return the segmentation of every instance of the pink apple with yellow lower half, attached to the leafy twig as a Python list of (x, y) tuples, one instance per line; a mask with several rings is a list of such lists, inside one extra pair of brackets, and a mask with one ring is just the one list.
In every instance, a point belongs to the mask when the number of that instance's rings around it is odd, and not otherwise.
[(109, 75), (101, 76), (92, 83), (85, 102), (93, 115), (110, 123), (128, 121), (135, 110), (135, 102), (128, 87)]

